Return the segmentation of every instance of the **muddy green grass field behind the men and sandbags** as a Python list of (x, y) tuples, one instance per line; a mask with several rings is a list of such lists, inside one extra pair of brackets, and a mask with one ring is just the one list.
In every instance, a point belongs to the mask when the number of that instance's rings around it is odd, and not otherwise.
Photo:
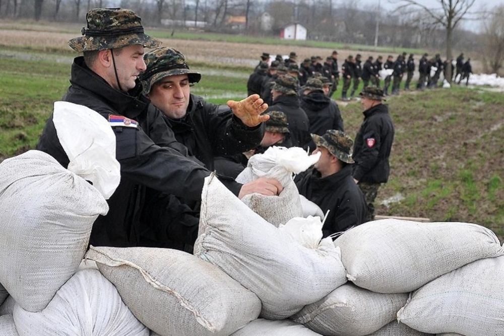
[[(52, 103), (68, 87), (75, 54), (58, 50), (33, 51), (18, 43), (0, 50), (0, 160), (34, 148)], [(250, 68), (210, 63), (192, 60), (192, 69), (203, 74), (193, 93), (214, 103), (246, 95)], [(334, 97), (340, 90), (341, 83)], [(504, 95), (454, 87), (402, 94), (387, 103), (396, 138), (390, 181), (377, 202), (400, 201), (377, 206), (377, 213), (475, 222), (504, 238)], [(354, 137), (361, 106), (340, 107)]]

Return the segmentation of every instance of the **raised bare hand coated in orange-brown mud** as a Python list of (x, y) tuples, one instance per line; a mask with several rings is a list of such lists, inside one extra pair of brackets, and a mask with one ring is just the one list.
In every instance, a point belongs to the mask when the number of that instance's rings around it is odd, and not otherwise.
[(231, 107), (233, 114), (248, 127), (255, 127), (270, 119), (270, 116), (261, 116), (268, 108), (259, 94), (253, 94), (240, 101), (229, 100), (227, 105)]

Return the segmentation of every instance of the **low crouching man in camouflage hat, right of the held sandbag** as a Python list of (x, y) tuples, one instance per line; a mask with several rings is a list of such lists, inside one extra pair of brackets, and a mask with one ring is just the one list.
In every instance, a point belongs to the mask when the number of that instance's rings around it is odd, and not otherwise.
[(329, 214), (322, 232), (324, 237), (348, 230), (365, 222), (367, 206), (352, 179), (352, 139), (342, 131), (328, 130), (311, 135), (321, 156), (312, 169), (295, 179), (299, 194)]

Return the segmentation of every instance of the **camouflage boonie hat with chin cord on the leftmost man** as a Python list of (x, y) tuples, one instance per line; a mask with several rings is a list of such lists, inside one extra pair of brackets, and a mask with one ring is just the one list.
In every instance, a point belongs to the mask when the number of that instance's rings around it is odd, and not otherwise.
[(140, 44), (155, 48), (161, 41), (144, 34), (141, 19), (132, 10), (97, 8), (86, 14), (87, 28), (83, 36), (71, 39), (68, 44), (76, 51), (106, 50)]

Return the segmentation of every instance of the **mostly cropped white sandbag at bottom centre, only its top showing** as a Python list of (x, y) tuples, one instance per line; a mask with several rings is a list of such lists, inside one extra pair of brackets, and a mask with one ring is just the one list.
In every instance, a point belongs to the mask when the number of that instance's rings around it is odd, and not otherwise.
[(239, 329), (231, 336), (317, 336), (320, 333), (311, 331), (301, 324), (294, 323), (290, 320), (267, 320), (259, 318), (254, 320), (243, 328)]

